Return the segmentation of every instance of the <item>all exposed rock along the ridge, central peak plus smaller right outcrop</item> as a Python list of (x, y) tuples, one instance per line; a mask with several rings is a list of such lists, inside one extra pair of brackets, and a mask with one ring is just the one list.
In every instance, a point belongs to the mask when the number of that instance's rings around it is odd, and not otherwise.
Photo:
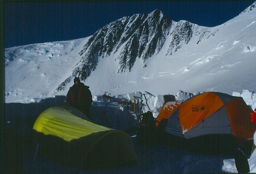
[(145, 63), (154, 54), (157, 55), (167, 37), (171, 37), (172, 41), (165, 53), (171, 56), (182, 45), (188, 44), (193, 35), (200, 36), (198, 44), (205, 36), (210, 37), (210, 31), (208, 27), (187, 21), (174, 22), (158, 9), (148, 15), (123, 17), (105, 25), (90, 37), (79, 53), (81, 60), (72, 71), (72, 76), (85, 80), (95, 70), (99, 58), (104, 59), (117, 51), (118, 73), (129, 72), (136, 59)]

